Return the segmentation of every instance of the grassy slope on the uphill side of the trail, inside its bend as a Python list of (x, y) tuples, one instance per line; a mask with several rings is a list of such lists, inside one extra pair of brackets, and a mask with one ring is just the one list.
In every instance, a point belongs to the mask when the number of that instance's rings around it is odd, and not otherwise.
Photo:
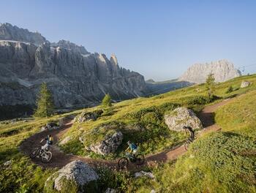
[[(240, 88), (242, 80), (249, 80), (253, 84), (247, 88)], [(226, 83), (218, 83), (215, 94), (220, 99), (237, 96), (255, 89), (255, 83), (256, 75), (238, 77)], [(230, 86), (233, 87), (233, 91), (226, 93), (227, 88)], [(170, 131), (164, 123), (164, 115), (178, 106), (192, 108), (197, 113), (204, 105), (209, 103), (206, 95), (206, 88), (201, 84), (150, 98), (118, 102), (113, 107), (105, 109), (105, 113), (97, 121), (74, 124), (69, 129), (69, 132), (64, 135), (64, 137), (71, 136), (72, 140), (67, 145), (62, 146), (62, 148), (67, 153), (104, 159), (115, 159), (117, 156), (121, 156), (126, 148), (127, 140), (138, 143), (140, 151), (144, 154), (154, 154), (164, 149), (172, 148), (174, 145), (183, 143), (186, 136), (180, 132)], [(101, 108), (99, 106), (86, 109), (85, 111), (89, 112)], [(101, 129), (102, 126), (105, 128)], [(78, 140), (78, 137), (83, 136), (86, 138), (84, 145), (89, 146), (91, 143), (102, 140), (105, 135), (110, 135), (115, 130), (123, 132), (124, 140), (116, 154), (110, 154), (110, 156), (103, 157), (91, 151), (86, 151)]]

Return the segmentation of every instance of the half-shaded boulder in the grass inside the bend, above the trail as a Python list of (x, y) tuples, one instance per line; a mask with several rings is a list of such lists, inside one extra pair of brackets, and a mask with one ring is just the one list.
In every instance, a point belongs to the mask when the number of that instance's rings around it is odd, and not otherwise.
[(116, 151), (123, 140), (123, 134), (121, 132), (114, 132), (113, 135), (105, 137), (105, 140), (99, 143), (90, 145), (89, 149), (96, 154), (108, 155)]

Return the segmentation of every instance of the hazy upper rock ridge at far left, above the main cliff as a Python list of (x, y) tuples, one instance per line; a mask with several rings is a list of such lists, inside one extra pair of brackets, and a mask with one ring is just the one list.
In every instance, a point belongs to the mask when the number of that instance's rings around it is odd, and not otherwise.
[(27, 29), (20, 29), (10, 23), (0, 23), (0, 39), (15, 40), (19, 42), (31, 42), (39, 45), (46, 41), (38, 32), (30, 32)]

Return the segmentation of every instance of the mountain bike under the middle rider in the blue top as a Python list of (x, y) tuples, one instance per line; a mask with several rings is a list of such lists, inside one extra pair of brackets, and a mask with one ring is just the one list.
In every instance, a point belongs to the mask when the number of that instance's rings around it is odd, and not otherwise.
[(126, 152), (125, 156), (121, 157), (118, 160), (118, 167), (124, 169), (127, 167), (129, 162), (135, 163), (137, 165), (142, 165), (145, 162), (145, 157), (143, 154), (132, 155), (129, 152)]

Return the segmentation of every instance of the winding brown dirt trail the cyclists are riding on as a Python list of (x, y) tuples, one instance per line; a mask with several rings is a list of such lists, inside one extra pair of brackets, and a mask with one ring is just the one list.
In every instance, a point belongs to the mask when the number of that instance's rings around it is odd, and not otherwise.
[[(214, 124), (214, 112), (219, 107), (226, 105), (228, 102), (231, 102), (232, 100), (233, 99), (225, 99), (222, 102), (216, 103), (214, 105), (206, 106), (203, 108), (203, 110), (199, 113), (198, 118), (200, 118), (200, 120), (202, 121), (204, 129), (198, 132), (197, 136), (200, 137), (200, 135), (206, 132), (217, 132), (221, 129), (217, 124)], [(64, 125), (61, 126), (60, 129), (53, 129), (50, 131), (39, 132), (35, 135), (32, 135), (31, 137), (23, 141), (23, 143), (21, 143), (20, 150), (29, 156), (32, 149), (43, 145), (42, 143), (39, 143), (40, 140), (45, 138), (47, 135), (52, 135), (54, 142), (56, 143), (59, 140), (59, 138), (62, 135), (64, 135), (64, 133), (67, 132), (67, 129), (69, 129), (71, 126), (72, 126), (72, 121), (70, 119), (67, 119), (64, 121)], [(41, 159), (39, 158), (33, 159), (33, 162), (42, 167), (63, 167), (69, 162), (72, 162), (74, 160), (80, 160), (80, 161), (86, 162), (92, 167), (105, 166), (105, 167), (110, 167), (112, 169), (117, 169), (118, 167), (117, 165), (118, 160), (109, 161), (105, 159), (91, 159), (91, 158), (76, 156), (72, 154), (64, 154), (64, 152), (62, 152), (57, 145), (51, 145), (51, 146), (52, 147), (50, 151), (53, 153), (53, 157), (49, 163), (46, 163), (46, 164), (42, 163)], [(159, 154), (148, 155), (146, 156), (146, 162), (144, 165), (154, 164), (156, 162), (157, 163), (167, 162), (167, 160), (177, 159), (178, 156), (181, 156), (185, 152), (186, 150), (184, 148), (184, 145), (180, 145), (176, 148), (162, 151)], [(127, 170), (138, 170), (138, 168), (136, 168), (134, 164), (129, 163)]]

